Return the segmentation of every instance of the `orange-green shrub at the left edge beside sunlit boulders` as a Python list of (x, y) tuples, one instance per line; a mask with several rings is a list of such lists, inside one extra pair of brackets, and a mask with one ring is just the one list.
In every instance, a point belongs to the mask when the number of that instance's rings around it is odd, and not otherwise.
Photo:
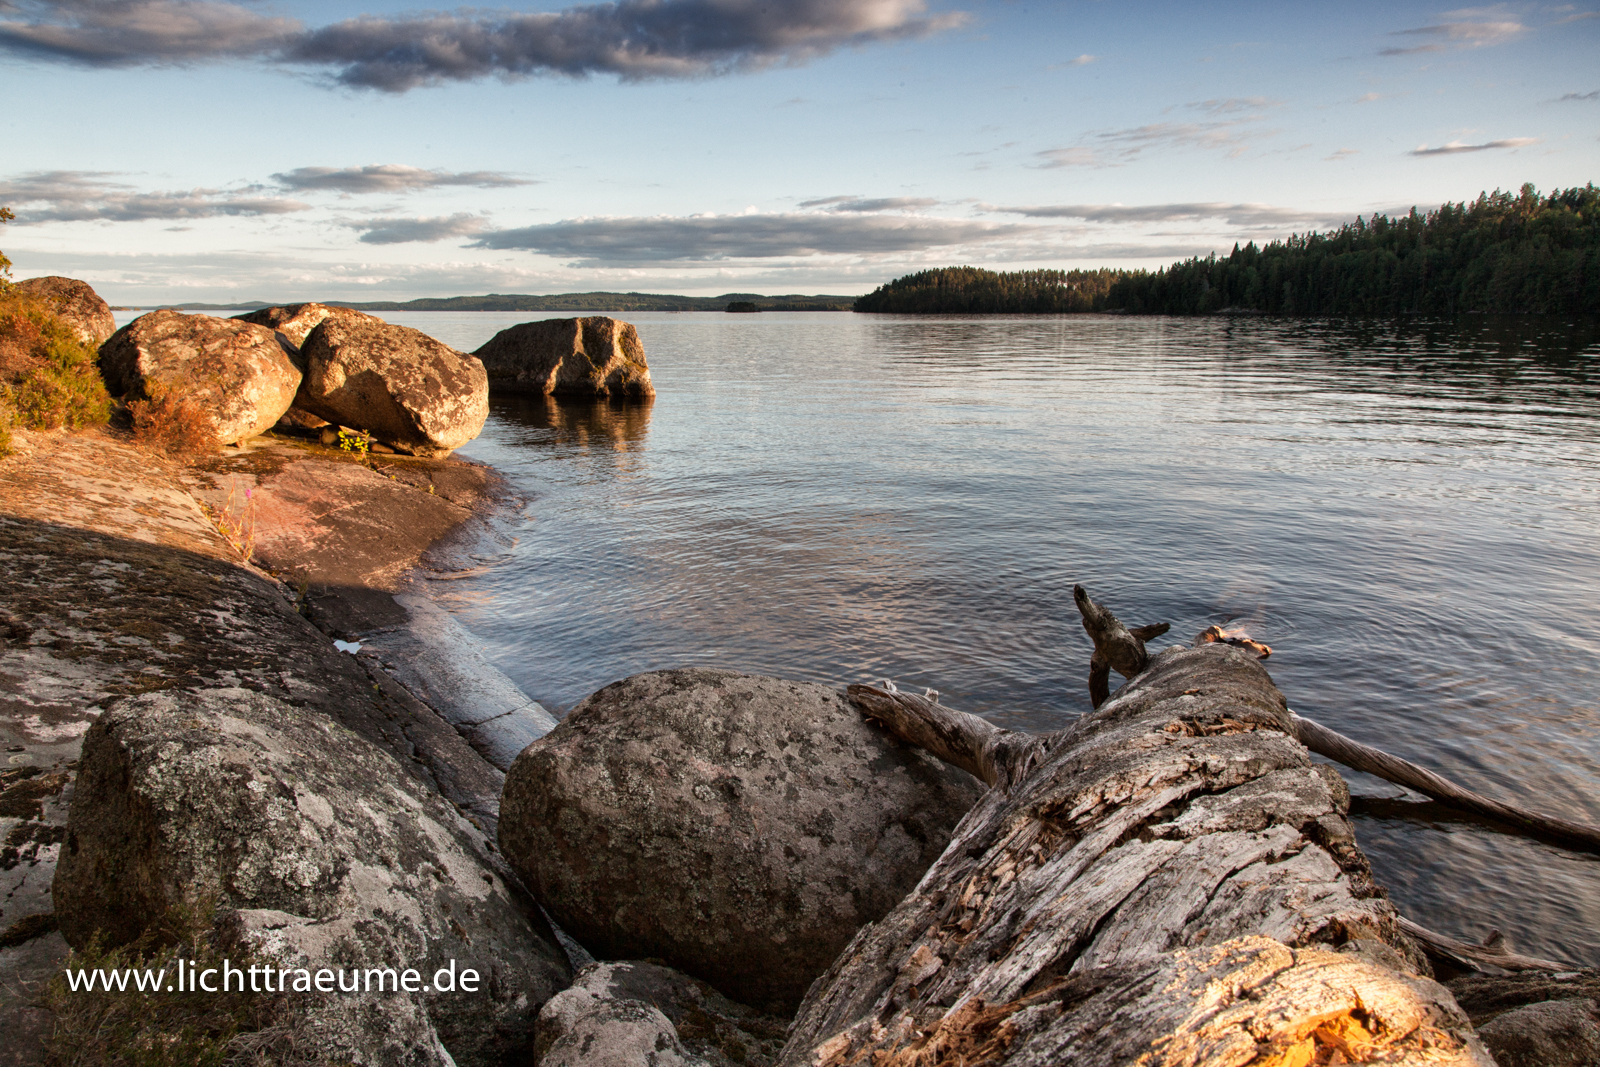
[[(35, 299), (0, 291), (0, 427), (78, 429), (110, 418), (96, 354)], [(10, 434), (0, 434), (0, 448)]]

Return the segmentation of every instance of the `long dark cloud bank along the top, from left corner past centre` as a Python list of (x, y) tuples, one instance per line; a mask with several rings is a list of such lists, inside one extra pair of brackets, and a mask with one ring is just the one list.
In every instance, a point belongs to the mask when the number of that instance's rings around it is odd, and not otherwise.
[(968, 22), (925, 0), (614, 0), (563, 11), (477, 8), (362, 16), (306, 29), (213, 0), (14, 0), (0, 48), (96, 67), (256, 56), (328, 67), (339, 83), (421, 85), (536, 74), (696, 78), (802, 64), (840, 48), (910, 40)]

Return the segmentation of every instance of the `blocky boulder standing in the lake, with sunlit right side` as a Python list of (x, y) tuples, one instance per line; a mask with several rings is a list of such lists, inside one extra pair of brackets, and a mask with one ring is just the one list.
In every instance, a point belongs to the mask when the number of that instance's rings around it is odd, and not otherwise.
[(632, 323), (595, 315), (501, 330), (474, 352), (496, 394), (587, 398), (654, 397), (645, 346)]

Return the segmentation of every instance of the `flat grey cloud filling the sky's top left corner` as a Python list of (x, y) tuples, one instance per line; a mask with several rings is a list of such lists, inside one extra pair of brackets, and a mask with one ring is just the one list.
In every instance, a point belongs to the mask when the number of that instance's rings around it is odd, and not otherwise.
[(0, 48), (91, 67), (254, 56), (301, 32), (294, 19), (208, 0), (19, 0), (0, 11)]

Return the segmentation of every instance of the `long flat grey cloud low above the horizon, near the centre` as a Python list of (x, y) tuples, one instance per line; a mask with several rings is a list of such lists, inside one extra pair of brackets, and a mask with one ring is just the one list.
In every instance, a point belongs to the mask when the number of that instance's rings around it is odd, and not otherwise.
[(723, 214), (570, 219), (493, 230), (474, 248), (518, 248), (576, 266), (706, 262), (800, 256), (878, 256), (990, 242), (1029, 226), (851, 214)]

